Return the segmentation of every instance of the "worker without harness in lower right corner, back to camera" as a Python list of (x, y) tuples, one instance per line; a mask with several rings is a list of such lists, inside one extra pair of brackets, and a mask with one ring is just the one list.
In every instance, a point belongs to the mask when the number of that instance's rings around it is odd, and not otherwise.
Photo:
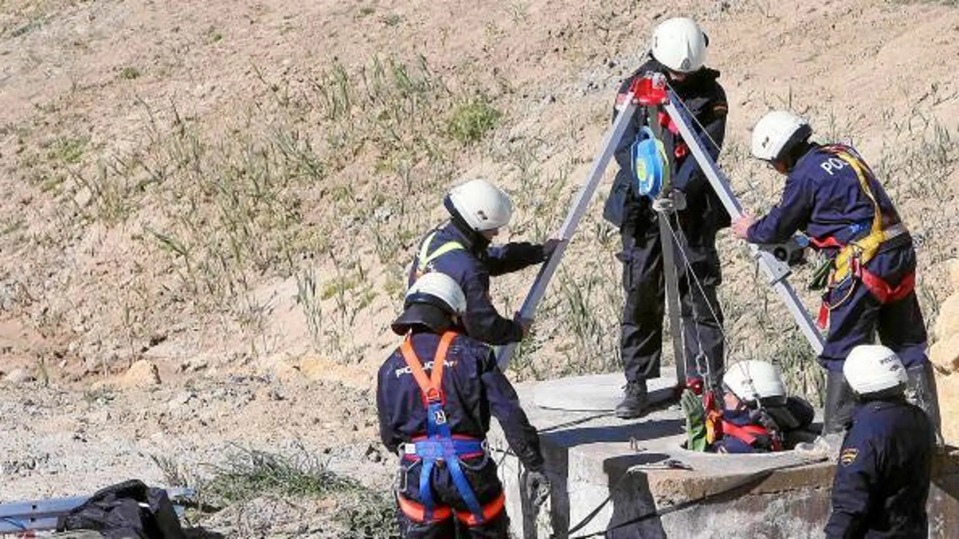
[(832, 480), (826, 536), (925, 539), (933, 425), (906, 402), (908, 375), (893, 350), (859, 345), (843, 372), (858, 405)]

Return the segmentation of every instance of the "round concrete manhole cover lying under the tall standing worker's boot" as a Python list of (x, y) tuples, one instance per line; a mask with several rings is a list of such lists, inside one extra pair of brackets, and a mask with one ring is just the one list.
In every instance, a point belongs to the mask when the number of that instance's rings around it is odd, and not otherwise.
[[(533, 402), (550, 410), (612, 412), (622, 400), (625, 383), (621, 372), (546, 380), (533, 386)], [(675, 378), (650, 380), (650, 401), (667, 400), (675, 385)]]

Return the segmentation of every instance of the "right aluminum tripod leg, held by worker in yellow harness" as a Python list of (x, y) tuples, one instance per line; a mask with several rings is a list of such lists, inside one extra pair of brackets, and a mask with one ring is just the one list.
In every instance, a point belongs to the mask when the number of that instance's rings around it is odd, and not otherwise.
[[(734, 219), (737, 219), (742, 215), (742, 207), (739, 205), (736, 194), (734, 194), (732, 188), (730, 188), (729, 179), (719, 170), (719, 167), (715, 161), (713, 161), (713, 157), (706, 151), (705, 146), (703, 146), (702, 140), (700, 140), (695, 131), (690, 128), (686, 115), (676, 108), (676, 102), (679, 102), (679, 99), (670, 91), (667, 101), (663, 103), (663, 107), (667, 111), (669, 118), (671, 118), (673, 123), (679, 128), (679, 133), (682, 135), (683, 140), (690, 146), (692, 156), (696, 159), (696, 162), (699, 163), (699, 168), (702, 168), (706, 174), (706, 178), (713, 186), (713, 191), (719, 195), (719, 199), (722, 201), (723, 206), (726, 207), (726, 211), (729, 212)], [(809, 316), (809, 312), (800, 301), (796, 290), (785, 280), (791, 273), (789, 266), (773, 256), (772, 253), (760, 250), (756, 245), (750, 244), (750, 251), (760, 268), (762, 268), (762, 272), (768, 279), (768, 283), (776, 290), (780, 299), (785, 303), (786, 308), (789, 309), (789, 313), (803, 332), (809, 346), (812, 347), (817, 354), (821, 353), (823, 351), (823, 336), (812, 322), (812, 317)]]

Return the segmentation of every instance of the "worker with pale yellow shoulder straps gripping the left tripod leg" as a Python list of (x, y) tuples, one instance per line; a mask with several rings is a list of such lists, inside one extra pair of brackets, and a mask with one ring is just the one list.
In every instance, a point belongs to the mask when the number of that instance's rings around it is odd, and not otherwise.
[(453, 188), (443, 199), (449, 222), (420, 242), (409, 269), (409, 285), (420, 276), (438, 271), (452, 277), (466, 294), (463, 315), (466, 334), (488, 345), (518, 343), (532, 321), (500, 316), (489, 297), (489, 278), (519, 271), (550, 257), (558, 239), (543, 245), (512, 242), (490, 246), (509, 223), (513, 204), (505, 192), (485, 180), (472, 180)]

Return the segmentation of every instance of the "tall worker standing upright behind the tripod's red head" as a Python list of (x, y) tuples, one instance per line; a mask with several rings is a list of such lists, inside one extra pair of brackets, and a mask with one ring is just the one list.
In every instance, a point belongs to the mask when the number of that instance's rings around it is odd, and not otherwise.
[[(663, 74), (694, 119), (691, 127), (706, 141), (713, 158), (718, 157), (726, 131), (728, 106), (725, 91), (717, 81), (719, 72), (704, 66), (707, 43), (706, 34), (690, 18), (671, 18), (656, 27), (649, 58), (620, 86), (613, 120), (625, 104), (634, 80), (649, 72)], [(691, 273), (701, 284), (697, 286), (693, 276), (687, 275), (684, 255), (677, 252), (687, 362), (703, 368), (708, 364), (713, 373), (721, 372), (723, 366), (723, 316), (716, 298), (721, 276), (715, 236), (718, 229), (729, 225), (729, 215), (691, 157), (689, 146), (678, 135), (676, 125), (665, 114), (656, 114), (650, 122), (647, 116), (651, 114), (639, 110), (626, 126), (615, 152), (620, 169), (603, 209), (603, 217), (619, 227), (622, 239), (622, 252), (617, 258), (622, 262), (625, 294), (620, 349), (626, 388), (616, 415), (623, 418), (638, 417), (647, 411), (646, 380), (660, 376), (663, 348), (665, 292), (658, 213), (649, 198), (637, 191), (631, 160), (631, 147), (643, 127), (649, 124), (661, 125), (664, 137), (672, 139), (667, 147), (674, 148), (671, 156), (674, 165), (670, 169), (676, 172), (671, 184), (673, 191), (668, 196), (680, 211), (670, 220), (673, 228), (678, 225), (685, 236), (685, 258), (689, 258)], [(694, 358), (697, 361), (693, 362)], [(694, 365), (688, 365), (686, 371), (693, 379), (690, 385), (701, 383), (705, 375)]]

